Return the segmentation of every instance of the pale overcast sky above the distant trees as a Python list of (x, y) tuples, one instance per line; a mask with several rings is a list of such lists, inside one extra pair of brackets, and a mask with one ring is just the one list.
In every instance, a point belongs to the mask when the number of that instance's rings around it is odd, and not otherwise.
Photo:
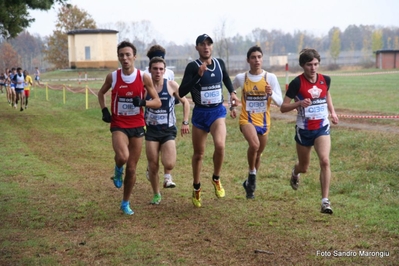
[[(327, 35), (332, 27), (342, 31), (349, 25), (399, 27), (399, 0), (70, 0), (87, 11), (97, 26), (117, 21), (149, 20), (163, 40), (193, 44), (202, 33), (212, 37), (223, 21), (227, 37), (246, 36), (253, 29), (306, 31)], [(58, 7), (31, 11), (36, 19), (28, 31), (41, 36), (55, 29)]]

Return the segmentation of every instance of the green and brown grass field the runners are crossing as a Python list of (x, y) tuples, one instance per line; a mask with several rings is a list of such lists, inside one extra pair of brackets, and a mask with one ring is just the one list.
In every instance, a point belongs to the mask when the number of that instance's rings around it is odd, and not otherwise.
[[(283, 77), (280, 82), (284, 89)], [(398, 115), (398, 84), (397, 73), (332, 73), (331, 94), (338, 114)], [(86, 85), (95, 91), (101, 82)], [(342, 118), (342, 124), (370, 128), (332, 127), (333, 215), (320, 213), (315, 153), (299, 190), (289, 186), (295, 116), (277, 119), (273, 107), (255, 200), (242, 188), (246, 141), (238, 121), (227, 118), (226, 197), (217, 199), (210, 183), (209, 137), (203, 207), (193, 207), (191, 137), (178, 136), (177, 187), (162, 190), (159, 206), (149, 204), (143, 149), (131, 197), (135, 214), (128, 217), (119, 210), (122, 192), (109, 179), (114, 154), (96, 96), (89, 94), (88, 109), (83, 93), (67, 91), (65, 104), (60, 90), (48, 97), (35, 88), (20, 112), (0, 94), (0, 265), (398, 264), (399, 119)], [(181, 106), (176, 109), (181, 121)], [(386, 125), (392, 130), (379, 129)]]

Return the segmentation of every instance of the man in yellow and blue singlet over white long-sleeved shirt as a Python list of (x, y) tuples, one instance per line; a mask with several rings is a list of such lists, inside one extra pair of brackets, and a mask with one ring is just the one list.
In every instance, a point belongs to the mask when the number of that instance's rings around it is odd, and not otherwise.
[[(270, 104), (278, 106), (283, 102), (280, 84), (276, 75), (262, 69), (263, 52), (259, 46), (249, 48), (247, 62), (250, 70), (238, 74), (233, 81), (234, 89), (241, 88), (240, 130), (248, 142), (248, 178), (243, 186), (247, 199), (255, 198), (256, 174), (260, 159), (270, 132)], [(230, 108), (230, 116), (237, 116), (236, 109)]]

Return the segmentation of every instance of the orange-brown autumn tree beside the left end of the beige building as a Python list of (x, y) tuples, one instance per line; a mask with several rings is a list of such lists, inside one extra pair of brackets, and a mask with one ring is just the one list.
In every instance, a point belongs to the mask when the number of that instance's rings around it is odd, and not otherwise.
[(96, 22), (85, 10), (75, 6), (62, 6), (57, 14), (53, 35), (48, 39), (47, 47), (43, 51), (44, 58), (56, 68), (67, 68), (68, 59), (68, 31), (80, 29), (95, 29)]

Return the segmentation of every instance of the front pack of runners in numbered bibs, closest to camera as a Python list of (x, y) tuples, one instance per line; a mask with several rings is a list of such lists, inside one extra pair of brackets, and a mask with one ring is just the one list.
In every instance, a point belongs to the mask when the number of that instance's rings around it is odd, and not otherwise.
[[(159, 48), (159, 47), (158, 47)], [(207, 137), (213, 139), (213, 173), (211, 183), (217, 198), (225, 197), (221, 182), (221, 168), (224, 161), (227, 129), (223, 85), (228, 90), (230, 116), (238, 118), (239, 129), (248, 143), (246, 152), (248, 178), (243, 182), (247, 199), (255, 198), (257, 174), (261, 156), (270, 132), (270, 104), (273, 101), (282, 113), (297, 110), (295, 142), (297, 162), (290, 175), (292, 189), (298, 190), (300, 174), (308, 171), (312, 147), (317, 153), (320, 165), (321, 213), (332, 214), (329, 200), (331, 169), (329, 154), (331, 148), (330, 121), (338, 123), (332, 98), (329, 93), (331, 79), (318, 73), (320, 54), (311, 48), (303, 49), (299, 65), (304, 72), (292, 80), (283, 98), (275, 74), (262, 68), (263, 52), (259, 46), (250, 47), (247, 52), (249, 70), (239, 73), (230, 80), (225, 63), (212, 56), (213, 40), (207, 34), (199, 35), (195, 49), (199, 58), (187, 64), (180, 85), (167, 74), (164, 49), (150, 49), (147, 54), (150, 63), (147, 71), (134, 66), (137, 49), (123, 41), (117, 47), (121, 68), (109, 73), (98, 93), (102, 120), (110, 123), (112, 147), (115, 152), (114, 176), (116, 188), (123, 187), (120, 209), (132, 215), (130, 197), (136, 183), (136, 167), (140, 158), (143, 139), (146, 141), (147, 176), (153, 189), (151, 204), (160, 204), (159, 157), (164, 166), (164, 187), (172, 188), (170, 171), (176, 163), (175, 138), (177, 133), (174, 104), (178, 100), (188, 107), (187, 94), (194, 104), (191, 115), (191, 130), (188, 115), (183, 111), (181, 134), (191, 133), (193, 156), (192, 203), (202, 206), (201, 170), (205, 157)], [(170, 72), (170, 71), (169, 71)], [(241, 110), (238, 112), (237, 89), (241, 89)], [(111, 90), (110, 109), (105, 95)], [(167, 170), (167, 171), (166, 171)]]

